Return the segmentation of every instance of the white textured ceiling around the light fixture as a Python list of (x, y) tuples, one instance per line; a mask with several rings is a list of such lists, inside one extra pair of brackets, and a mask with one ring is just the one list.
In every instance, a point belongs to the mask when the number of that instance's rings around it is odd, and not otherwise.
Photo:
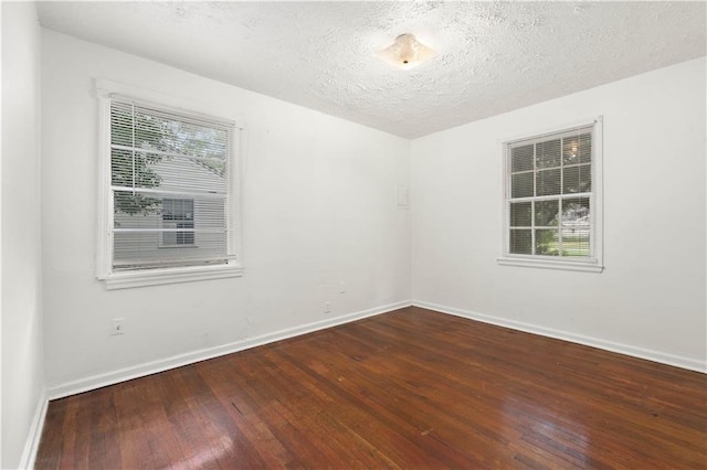
[[(704, 2), (42, 2), (44, 28), (416, 138), (706, 53)], [(413, 33), (411, 71), (374, 54)]]

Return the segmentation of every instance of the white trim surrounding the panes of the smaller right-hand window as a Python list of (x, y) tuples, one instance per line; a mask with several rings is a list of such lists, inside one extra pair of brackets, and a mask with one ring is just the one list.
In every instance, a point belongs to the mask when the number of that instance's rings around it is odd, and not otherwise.
[[(592, 207), (594, 216), (593, 232), (593, 256), (588, 259), (579, 257), (556, 257), (542, 255), (519, 255), (508, 253), (508, 232), (510, 227), (510, 211), (507, 209), (508, 193), (510, 189), (509, 165), (510, 158), (508, 153), (509, 145), (517, 141), (528, 140), (537, 141), (546, 137), (561, 133), (573, 128), (592, 126)], [(603, 116), (597, 116), (589, 119), (582, 119), (576, 122), (553, 126), (551, 129), (541, 131), (527, 132), (523, 136), (507, 138), (499, 141), (502, 164), (500, 178), (503, 192), (500, 194), (500, 214), (502, 214), (502, 236), (500, 236), (500, 255), (496, 261), (500, 266), (517, 266), (541, 269), (560, 269), (583, 273), (602, 273), (604, 270), (603, 258)]]

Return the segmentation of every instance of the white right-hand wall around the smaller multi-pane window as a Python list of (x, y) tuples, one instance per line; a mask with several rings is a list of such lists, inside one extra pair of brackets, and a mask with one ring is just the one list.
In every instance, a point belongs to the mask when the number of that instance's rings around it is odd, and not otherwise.
[[(500, 139), (604, 116), (603, 274), (498, 266)], [(412, 142), (413, 299), (705, 370), (705, 58)]]

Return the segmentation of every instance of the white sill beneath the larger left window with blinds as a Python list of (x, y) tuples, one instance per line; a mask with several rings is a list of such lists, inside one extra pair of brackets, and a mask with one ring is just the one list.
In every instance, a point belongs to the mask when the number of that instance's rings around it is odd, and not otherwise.
[(108, 290), (114, 290), (241, 276), (243, 276), (243, 266), (219, 265), (112, 273), (101, 279), (105, 280)]

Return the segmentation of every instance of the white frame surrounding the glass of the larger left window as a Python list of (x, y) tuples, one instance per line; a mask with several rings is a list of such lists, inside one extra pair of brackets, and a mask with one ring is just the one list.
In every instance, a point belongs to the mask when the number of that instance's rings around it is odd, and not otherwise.
[[(243, 276), (241, 256), (241, 160), (244, 126), (233, 118), (223, 118), (202, 110), (198, 104), (120, 83), (96, 78), (96, 98), (98, 100), (98, 197), (97, 197), (97, 249), (96, 277), (105, 282), (108, 290), (144, 286), (158, 286), (175, 282), (189, 282), (208, 279), (222, 279)], [(218, 265), (188, 265), (163, 268), (114, 270), (113, 269), (113, 218), (112, 178), (110, 178), (110, 102), (114, 98), (129, 97), (136, 103), (156, 106), (160, 109), (183, 116), (202, 117), (212, 120), (229, 121), (234, 125), (231, 156), (228, 165), (226, 200), (226, 252), (229, 258)], [(161, 215), (160, 215), (161, 218)], [(160, 237), (161, 242), (161, 237)], [(179, 248), (193, 248), (184, 245)], [(169, 246), (172, 248), (173, 246)]]

